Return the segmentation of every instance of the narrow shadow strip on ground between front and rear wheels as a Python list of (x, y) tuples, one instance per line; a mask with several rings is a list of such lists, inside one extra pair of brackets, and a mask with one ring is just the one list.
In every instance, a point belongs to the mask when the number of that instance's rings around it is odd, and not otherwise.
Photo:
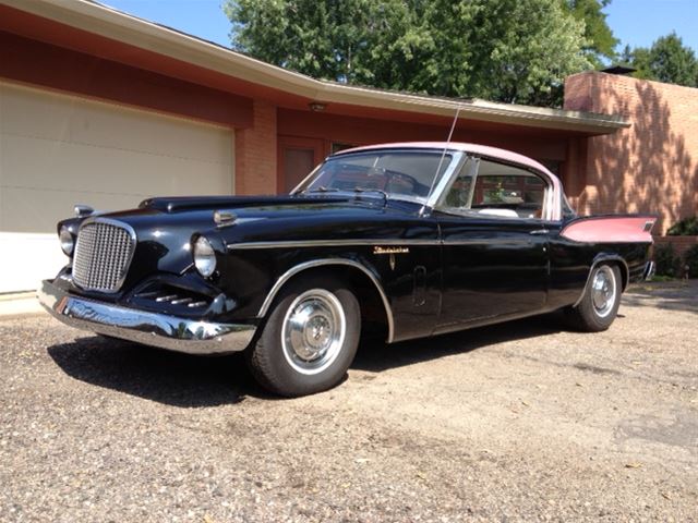
[(389, 345), (370, 342), (359, 348), (351, 368), (380, 373), (387, 368), (467, 353), (494, 343), (552, 335), (563, 329), (562, 314), (553, 313)]

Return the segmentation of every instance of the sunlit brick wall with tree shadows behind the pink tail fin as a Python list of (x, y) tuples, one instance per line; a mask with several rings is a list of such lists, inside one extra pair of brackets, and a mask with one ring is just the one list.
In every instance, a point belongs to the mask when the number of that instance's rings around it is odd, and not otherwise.
[(566, 80), (565, 109), (633, 123), (581, 148), (569, 194), (580, 212), (657, 214), (659, 233), (698, 212), (698, 89), (587, 72)]

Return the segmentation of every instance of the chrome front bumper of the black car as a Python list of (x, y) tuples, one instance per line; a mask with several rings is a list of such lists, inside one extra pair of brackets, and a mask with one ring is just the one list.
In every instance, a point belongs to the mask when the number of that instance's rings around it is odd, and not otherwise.
[(198, 321), (96, 302), (68, 294), (49, 280), (41, 282), (37, 295), (44, 308), (71, 327), (189, 354), (243, 351), (256, 330), (254, 325)]

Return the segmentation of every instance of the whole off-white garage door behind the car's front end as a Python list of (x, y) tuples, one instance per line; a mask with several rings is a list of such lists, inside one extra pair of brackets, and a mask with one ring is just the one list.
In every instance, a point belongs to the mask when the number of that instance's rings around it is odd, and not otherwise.
[(56, 222), (74, 204), (232, 194), (233, 166), (230, 129), (0, 83), (0, 293), (65, 264)]

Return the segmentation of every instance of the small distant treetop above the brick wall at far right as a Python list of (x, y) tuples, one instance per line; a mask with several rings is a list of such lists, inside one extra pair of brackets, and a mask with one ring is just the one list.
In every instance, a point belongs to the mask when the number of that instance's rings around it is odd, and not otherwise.
[(648, 49), (626, 46), (624, 60), (637, 69), (638, 78), (655, 80), (669, 84), (698, 87), (698, 60), (689, 47), (685, 47), (676, 33), (658, 38)]

